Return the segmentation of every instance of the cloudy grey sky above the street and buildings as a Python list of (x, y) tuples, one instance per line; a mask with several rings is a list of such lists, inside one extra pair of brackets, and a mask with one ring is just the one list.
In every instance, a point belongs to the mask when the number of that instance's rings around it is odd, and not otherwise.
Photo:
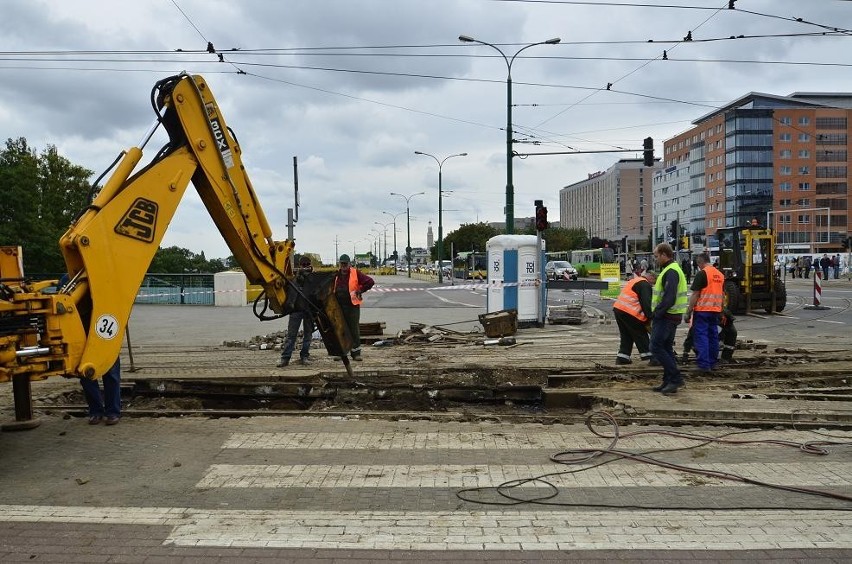
[[(236, 132), (278, 239), (293, 207), (298, 251), (365, 252), (387, 233), (405, 248), (504, 219), (507, 64), (519, 153), (641, 149), (748, 92), (852, 92), (845, 0), (3, 0), (0, 134), (55, 145), (100, 174), (140, 142), (154, 82), (206, 77)], [(839, 29), (838, 29), (839, 28)], [(691, 35), (692, 41), (684, 41)], [(742, 37), (740, 37), (742, 36)], [(206, 52), (211, 42), (224, 61)], [(664, 52), (666, 60), (664, 59)], [(241, 72), (240, 72), (241, 71)], [(609, 90), (607, 85), (611, 84)], [(148, 158), (165, 142), (160, 132)], [(514, 159), (515, 216), (639, 153)], [(383, 213), (387, 212), (387, 213)], [(391, 224), (385, 228), (381, 224)], [(192, 188), (163, 241), (230, 254)]]

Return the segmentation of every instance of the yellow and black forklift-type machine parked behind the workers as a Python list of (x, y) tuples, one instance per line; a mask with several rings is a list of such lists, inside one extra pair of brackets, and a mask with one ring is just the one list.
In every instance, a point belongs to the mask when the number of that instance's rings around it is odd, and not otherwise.
[(784, 311), (787, 288), (775, 271), (775, 233), (753, 222), (728, 227), (719, 237), (719, 270), (725, 275), (725, 303), (733, 313)]

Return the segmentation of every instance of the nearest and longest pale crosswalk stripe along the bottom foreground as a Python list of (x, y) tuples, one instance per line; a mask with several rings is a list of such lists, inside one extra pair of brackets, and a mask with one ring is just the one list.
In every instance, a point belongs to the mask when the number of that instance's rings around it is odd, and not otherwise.
[(310, 511), (0, 505), (0, 520), (167, 525), (164, 544), (392, 550), (852, 548), (852, 512)]

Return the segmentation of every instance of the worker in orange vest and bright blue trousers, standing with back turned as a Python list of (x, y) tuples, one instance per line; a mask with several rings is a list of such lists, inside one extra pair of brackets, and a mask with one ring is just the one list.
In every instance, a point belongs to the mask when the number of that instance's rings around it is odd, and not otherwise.
[(695, 260), (699, 271), (690, 287), (692, 295), (683, 320), (692, 321), (698, 371), (708, 373), (719, 359), (719, 317), (725, 297), (725, 277), (710, 264), (706, 254), (699, 254)]

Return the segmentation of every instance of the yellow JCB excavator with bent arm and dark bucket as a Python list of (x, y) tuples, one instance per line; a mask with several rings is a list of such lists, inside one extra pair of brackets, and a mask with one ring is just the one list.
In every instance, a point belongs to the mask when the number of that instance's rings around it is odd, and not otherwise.
[[(109, 180), (59, 241), (68, 281), (28, 282), (20, 248), (0, 252), (0, 381), (100, 378), (115, 362), (134, 299), (190, 182), (275, 319), (310, 308), (329, 354), (352, 347), (332, 280), (300, 287), (293, 242), (276, 241), (242, 163), (242, 151), (200, 76), (180, 74), (152, 91), (157, 121), (124, 152)], [(164, 126), (168, 144), (136, 170)], [(257, 309), (256, 309), (257, 313)], [(349, 365), (346, 365), (350, 370)], [(351, 371), (351, 370), (350, 370)], [(17, 399), (17, 398), (16, 398)], [(16, 406), (17, 408), (17, 406)]]

